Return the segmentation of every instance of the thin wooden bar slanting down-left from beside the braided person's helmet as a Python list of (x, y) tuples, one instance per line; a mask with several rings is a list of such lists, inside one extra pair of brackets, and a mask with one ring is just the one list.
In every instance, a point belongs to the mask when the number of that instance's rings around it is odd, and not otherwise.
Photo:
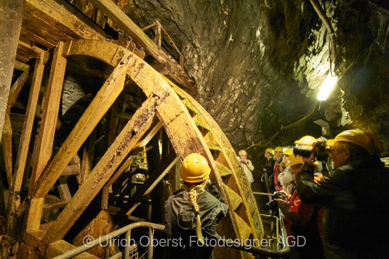
[[(131, 197), (129, 202), (125, 204), (119, 214), (130, 215), (138, 205), (141, 204), (143, 197), (150, 193), (151, 190), (162, 180), (162, 178), (169, 172), (169, 170), (179, 161), (176, 153), (170, 153), (160, 166), (150, 174), (149, 178)], [(120, 216), (119, 216), (120, 218)]]

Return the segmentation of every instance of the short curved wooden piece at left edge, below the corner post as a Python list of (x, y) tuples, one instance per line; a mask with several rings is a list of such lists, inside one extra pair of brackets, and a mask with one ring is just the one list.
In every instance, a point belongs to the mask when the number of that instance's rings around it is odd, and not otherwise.
[(12, 127), (9, 114), (5, 114), (3, 133), (1, 137), (1, 148), (3, 150), (5, 173), (7, 175), (8, 186), (12, 183)]

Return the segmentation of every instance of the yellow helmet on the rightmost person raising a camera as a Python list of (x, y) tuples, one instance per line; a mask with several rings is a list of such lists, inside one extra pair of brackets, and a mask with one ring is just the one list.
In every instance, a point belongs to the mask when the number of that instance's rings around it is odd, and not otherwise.
[(367, 133), (358, 129), (346, 130), (339, 133), (335, 137), (335, 142), (337, 141), (353, 143), (355, 145), (363, 147), (369, 153), (377, 155), (381, 154), (382, 151), (382, 144), (378, 138), (376, 138), (371, 133)]

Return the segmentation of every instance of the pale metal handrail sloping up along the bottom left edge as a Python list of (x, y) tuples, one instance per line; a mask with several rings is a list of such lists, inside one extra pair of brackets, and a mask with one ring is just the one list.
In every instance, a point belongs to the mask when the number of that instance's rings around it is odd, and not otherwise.
[(161, 224), (155, 224), (155, 223), (151, 223), (151, 222), (136, 222), (136, 223), (132, 223), (132, 224), (129, 224), (129, 225), (126, 225), (122, 228), (119, 228), (118, 230), (115, 230), (103, 237), (99, 237), (98, 240), (95, 240), (93, 239), (92, 242), (88, 242), (87, 244), (83, 244), (83, 245), (80, 245), (78, 246), (77, 248), (74, 248), (62, 255), (59, 255), (59, 256), (56, 256), (54, 257), (53, 259), (70, 259), (76, 255), (79, 255), (81, 254), (82, 252), (85, 252), (85, 251), (88, 251), (90, 248), (93, 248), (95, 246), (98, 246), (99, 244), (101, 243), (104, 243), (104, 242), (107, 242), (107, 240), (109, 239), (112, 239), (114, 237), (117, 237), (119, 235), (122, 235), (124, 234), (125, 232), (127, 232), (128, 230), (131, 230), (135, 227), (152, 227), (154, 229), (158, 229), (158, 230), (164, 230), (165, 229), (165, 226), (164, 225), (161, 225)]

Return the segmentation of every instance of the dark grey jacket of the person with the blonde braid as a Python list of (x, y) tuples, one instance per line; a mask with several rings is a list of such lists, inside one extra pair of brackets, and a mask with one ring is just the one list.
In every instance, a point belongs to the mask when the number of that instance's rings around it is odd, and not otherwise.
[[(214, 184), (209, 184), (208, 191), (197, 195), (197, 204), (204, 238), (218, 238), (217, 223), (227, 215), (229, 208)], [(166, 236), (172, 241), (182, 239), (180, 245), (168, 248), (168, 258), (213, 258), (212, 246), (197, 246), (195, 209), (191, 205), (189, 191), (178, 190), (170, 196), (166, 201), (165, 211)]]

